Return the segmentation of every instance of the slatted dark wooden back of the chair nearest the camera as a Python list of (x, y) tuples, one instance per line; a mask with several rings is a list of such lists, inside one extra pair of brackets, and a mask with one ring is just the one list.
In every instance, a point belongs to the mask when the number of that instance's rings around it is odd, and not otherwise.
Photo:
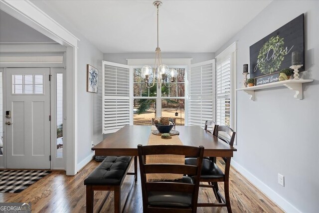
[[(141, 185), (143, 197), (143, 212), (174, 212), (186, 213), (196, 212), (198, 189), (201, 165), (204, 153), (204, 147), (191, 147), (180, 145), (154, 145), (142, 146), (138, 145), (139, 163), (141, 172)], [(197, 165), (180, 165), (180, 164), (146, 164), (147, 155), (181, 155), (192, 156), (197, 158)], [(182, 174), (194, 177), (193, 184), (177, 183), (172, 181), (147, 182), (146, 174)], [(169, 206), (150, 206), (148, 201), (148, 193), (150, 192), (167, 192), (169, 193), (185, 193), (192, 195), (192, 202), (190, 208), (185, 207), (169, 207)], [(158, 208), (158, 210), (156, 210)]]

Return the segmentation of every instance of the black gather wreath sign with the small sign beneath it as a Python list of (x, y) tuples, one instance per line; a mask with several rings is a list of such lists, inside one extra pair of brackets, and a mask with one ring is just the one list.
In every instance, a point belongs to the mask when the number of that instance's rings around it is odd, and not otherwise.
[[(250, 78), (255, 85), (279, 81), (279, 71), (292, 65), (292, 52), (304, 54), (304, 14), (267, 35), (250, 48)], [(304, 57), (302, 64), (305, 66)], [(304, 66), (299, 70), (304, 71)]]

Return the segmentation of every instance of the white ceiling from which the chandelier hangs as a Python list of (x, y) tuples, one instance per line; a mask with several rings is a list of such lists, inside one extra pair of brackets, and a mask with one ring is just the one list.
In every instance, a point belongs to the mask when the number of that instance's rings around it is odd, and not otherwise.
[[(153, 0), (42, 1), (104, 53), (154, 52)], [(162, 0), (162, 52), (215, 52), (271, 0)], [(63, 25), (63, 23), (61, 23)]]

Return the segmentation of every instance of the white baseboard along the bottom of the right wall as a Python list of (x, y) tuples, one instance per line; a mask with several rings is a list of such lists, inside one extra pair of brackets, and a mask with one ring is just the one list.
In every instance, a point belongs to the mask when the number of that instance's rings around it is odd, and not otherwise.
[(236, 161), (232, 159), (231, 165), (241, 173), (245, 178), (247, 178), (255, 187), (262, 191), (266, 196), (268, 196), (273, 202), (275, 202), (280, 208), (282, 208), (287, 213), (301, 213), (296, 207), (291, 203), (286, 201), (283, 197), (278, 195), (274, 190), (264, 184), (256, 176), (247, 171), (244, 167), (239, 165)]

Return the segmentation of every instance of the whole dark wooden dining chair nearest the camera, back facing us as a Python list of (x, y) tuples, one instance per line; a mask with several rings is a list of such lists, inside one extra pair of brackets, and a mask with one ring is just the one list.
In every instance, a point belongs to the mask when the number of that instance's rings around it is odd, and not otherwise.
[[(138, 145), (144, 213), (196, 213), (204, 147)], [(150, 155), (192, 156), (194, 165), (146, 164)], [(148, 182), (147, 174), (181, 174), (174, 181)], [(187, 176), (185, 176), (187, 175)]]

